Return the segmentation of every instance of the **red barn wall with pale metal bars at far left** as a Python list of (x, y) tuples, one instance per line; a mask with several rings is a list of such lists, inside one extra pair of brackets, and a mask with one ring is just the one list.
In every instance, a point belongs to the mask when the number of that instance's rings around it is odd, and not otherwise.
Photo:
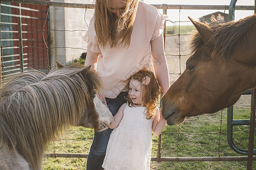
[(29, 69), (48, 71), (47, 14), (45, 6), (1, 2), (1, 84)]

